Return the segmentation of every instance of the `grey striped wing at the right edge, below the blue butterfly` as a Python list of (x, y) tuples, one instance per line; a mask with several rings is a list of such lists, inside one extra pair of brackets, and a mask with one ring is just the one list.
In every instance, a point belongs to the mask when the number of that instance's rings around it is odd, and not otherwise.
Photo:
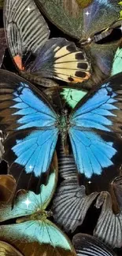
[[(98, 217), (98, 222), (94, 228), (94, 236), (113, 248), (122, 247), (122, 211), (121, 211), (121, 177), (114, 181), (116, 186), (113, 200), (109, 193), (105, 193), (105, 200), (102, 205), (102, 212)], [(116, 192), (119, 193), (116, 193)], [(115, 205), (115, 202), (117, 204)], [(116, 207), (115, 207), (116, 206)], [(96, 203), (96, 207), (98, 204)]]

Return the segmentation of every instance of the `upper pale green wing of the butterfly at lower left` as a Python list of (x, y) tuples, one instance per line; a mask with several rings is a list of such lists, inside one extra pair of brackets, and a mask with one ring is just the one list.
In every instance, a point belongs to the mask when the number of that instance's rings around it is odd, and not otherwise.
[(39, 210), (45, 210), (46, 206), (49, 204), (52, 196), (54, 195), (56, 184), (57, 171), (54, 169), (54, 171), (50, 173), (46, 186), (41, 185), (39, 195), (36, 195), (32, 191), (20, 193), (17, 200), (14, 202), (13, 209), (11, 202), (7, 202), (6, 204), (1, 203), (0, 221), (9, 220), (15, 217), (27, 216)]

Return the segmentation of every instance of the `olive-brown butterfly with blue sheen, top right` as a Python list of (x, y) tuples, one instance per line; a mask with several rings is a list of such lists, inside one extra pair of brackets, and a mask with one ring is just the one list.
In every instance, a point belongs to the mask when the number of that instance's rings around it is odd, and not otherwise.
[[(114, 54), (121, 38), (118, 0), (35, 0), (46, 17), (61, 31), (77, 39), (91, 59), (91, 84), (111, 75)], [(117, 23), (116, 23), (116, 20)], [(112, 25), (116, 23), (116, 25)], [(119, 33), (119, 37), (118, 37)], [(89, 83), (89, 80), (88, 80)]]

